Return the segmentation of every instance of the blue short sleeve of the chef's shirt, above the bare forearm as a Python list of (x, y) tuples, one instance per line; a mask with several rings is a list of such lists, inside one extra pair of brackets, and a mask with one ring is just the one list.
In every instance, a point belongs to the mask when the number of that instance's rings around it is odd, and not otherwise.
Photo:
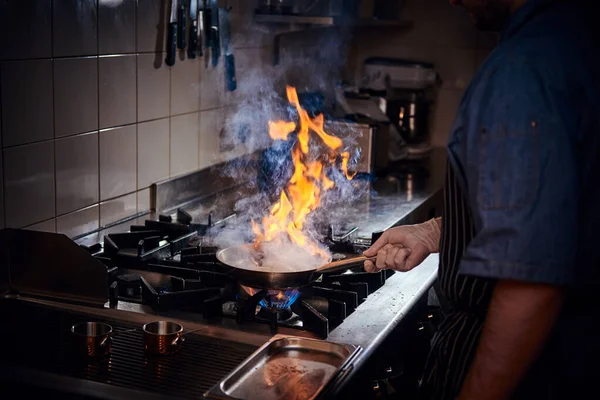
[(526, 63), (503, 67), (486, 85), (488, 106), (470, 121), (475, 168), (465, 174), (476, 234), (463, 274), (574, 283), (577, 127), (546, 78)]

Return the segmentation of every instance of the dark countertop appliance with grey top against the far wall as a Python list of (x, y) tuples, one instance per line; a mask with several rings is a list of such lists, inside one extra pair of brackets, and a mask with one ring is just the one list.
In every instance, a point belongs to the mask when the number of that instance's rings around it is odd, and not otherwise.
[(430, 117), (439, 76), (431, 63), (374, 57), (365, 60), (361, 91), (379, 98), (406, 142), (408, 158), (419, 159), (431, 150)]

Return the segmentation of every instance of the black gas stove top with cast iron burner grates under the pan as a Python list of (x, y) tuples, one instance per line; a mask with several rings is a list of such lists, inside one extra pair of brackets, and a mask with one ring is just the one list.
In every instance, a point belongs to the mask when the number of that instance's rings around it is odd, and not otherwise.
[[(394, 273), (366, 273), (357, 263), (343, 273), (324, 274), (308, 286), (285, 291), (242, 286), (229, 267), (217, 261), (210, 233), (234, 219), (231, 214), (213, 223), (208, 214), (206, 223), (198, 223), (177, 209), (132, 225), (129, 232), (105, 235), (103, 248), (87, 247), (108, 269), (109, 305), (138, 303), (154, 311), (199, 313), (207, 321), (228, 318), (237, 324), (267, 324), (272, 333), (287, 327), (327, 338)], [(334, 259), (356, 256), (367, 247), (353, 240), (356, 230), (324, 227), (322, 243)], [(374, 234), (372, 240), (377, 237)]]

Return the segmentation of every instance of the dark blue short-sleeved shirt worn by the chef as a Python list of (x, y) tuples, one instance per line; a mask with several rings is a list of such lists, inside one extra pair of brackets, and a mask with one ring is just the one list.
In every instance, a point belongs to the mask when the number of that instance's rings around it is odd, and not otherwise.
[(593, 15), (577, 1), (529, 0), (465, 92), (448, 144), (475, 225), (461, 273), (599, 285)]

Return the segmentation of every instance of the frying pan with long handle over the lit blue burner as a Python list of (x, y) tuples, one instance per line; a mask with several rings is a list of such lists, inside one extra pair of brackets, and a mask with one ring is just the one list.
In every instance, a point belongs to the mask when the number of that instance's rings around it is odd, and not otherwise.
[[(274, 243), (263, 243), (265, 253), (276, 252), (280, 249)], [(375, 257), (352, 257), (331, 262), (328, 259), (314, 257), (312, 263), (301, 268), (286, 268), (286, 265), (264, 267), (260, 264), (260, 254), (252, 245), (232, 246), (217, 252), (217, 259), (232, 268), (232, 274), (237, 281), (255, 289), (292, 289), (309, 285), (323, 273), (345, 271), (352, 265), (360, 264)], [(293, 262), (293, 261), (291, 261)], [(320, 266), (318, 266), (321, 264)]]

